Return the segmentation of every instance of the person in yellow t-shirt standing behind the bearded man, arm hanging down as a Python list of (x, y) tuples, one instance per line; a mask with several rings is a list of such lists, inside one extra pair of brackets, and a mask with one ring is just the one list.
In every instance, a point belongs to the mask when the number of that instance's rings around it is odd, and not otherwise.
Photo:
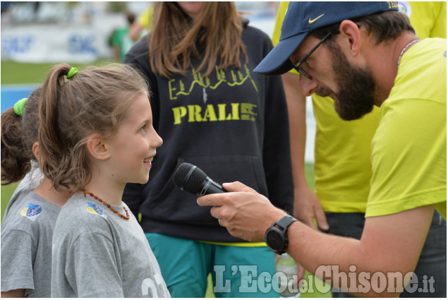
[[(281, 24), (289, 2), (281, 2), (272, 35), (279, 43)], [(447, 37), (446, 2), (399, 2), (399, 11), (411, 20), (416, 34), (427, 37)], [(315, 136), (315, 193), (305, 180), (305, 96), (299, 88), (298, 72), (284, 73), (291, 136), (291, 160), (294, 178), (294, 216), (310, 227), (339, 236), (361, 239), (365, 208), (370, 191), (372, 165), (370, 143), (378, 127), (380, 108), (362, 119), (344, 121), (334, 110), (334, 100), (313, 94), (313, 110), (317, 123)], [(447, 295), (447, 222), (435, 211), (430, 232), (420, 254), (416, 275), (420, 288), (423, 276), (435, 278), (435, 293), (409, 294), (401, 297), (446, 297)], [(303, 272), (299, 273), (303, 276)], [(348, 293), (332, 291), (333, 297), (349, 297)]]

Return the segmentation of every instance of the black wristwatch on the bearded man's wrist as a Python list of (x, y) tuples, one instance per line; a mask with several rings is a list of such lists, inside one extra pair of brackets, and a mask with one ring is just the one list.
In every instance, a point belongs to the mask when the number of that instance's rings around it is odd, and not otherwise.
[(286, 215), (279, 221), (274, 222), (265, 233), (267, 247), (277, 254), (283, 254), (288, 246), (288, 236), (286, 232), (288, 231), (289, 225), (296, 221), (297, 219), (295, 217)]

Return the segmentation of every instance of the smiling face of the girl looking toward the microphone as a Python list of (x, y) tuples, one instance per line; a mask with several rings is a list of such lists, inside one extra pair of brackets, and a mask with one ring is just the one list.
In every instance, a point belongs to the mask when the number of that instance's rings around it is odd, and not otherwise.
[(117, 184), (146, 184), (156, 148), (163, 141), (152, 127), (151, 104), (145, 93), (135, 97), (118, 132), (106, 143), (111, 179)]

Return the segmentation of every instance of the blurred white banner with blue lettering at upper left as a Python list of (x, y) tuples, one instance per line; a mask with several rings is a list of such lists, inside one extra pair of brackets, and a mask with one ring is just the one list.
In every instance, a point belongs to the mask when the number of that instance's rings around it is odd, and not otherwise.
[(91, 62), (110, 57), (103, 32), (90, 26), (23, 25), (1, 32), (1, 59), (28, 63)]

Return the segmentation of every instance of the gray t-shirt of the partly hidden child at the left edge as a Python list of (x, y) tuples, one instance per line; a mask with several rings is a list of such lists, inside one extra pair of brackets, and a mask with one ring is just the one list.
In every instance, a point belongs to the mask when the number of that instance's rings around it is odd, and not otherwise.
[(13, 194), (1, 223), (1, 292), (25, 289), (25, 297), (50, 296), (52, 236), (60, 210), (26, 186)]

